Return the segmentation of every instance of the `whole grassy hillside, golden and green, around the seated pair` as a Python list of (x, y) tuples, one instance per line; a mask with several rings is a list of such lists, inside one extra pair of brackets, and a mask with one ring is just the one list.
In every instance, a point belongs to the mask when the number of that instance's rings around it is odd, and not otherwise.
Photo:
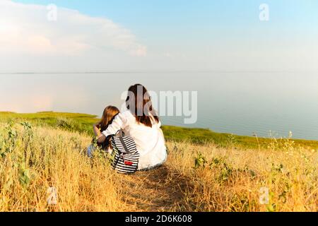
[(166, 164), (129, 176), (102, 151), (86, 156), (96, 120), (0, 113), (0, 211), (318, 210), (315, 141), (164, 126)]

